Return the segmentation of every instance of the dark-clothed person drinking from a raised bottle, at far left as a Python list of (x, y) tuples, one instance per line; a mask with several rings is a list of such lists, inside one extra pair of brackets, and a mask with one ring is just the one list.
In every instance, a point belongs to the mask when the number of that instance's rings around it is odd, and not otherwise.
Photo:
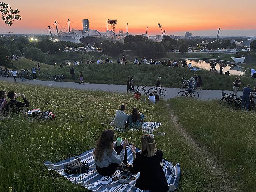
[(29, 102), (26, 99), (25, 95), (21, 94), (20, 96), (23, 98), (24, 103), (16, 100), (18, 98), (18, 96), (14, 91), (8, 92), (7, 97), (11, 100), (10, 104), (8, 106), (8, 111), (10, 111), (12, 113), (19, 113), (22, 107), (29, 106)]

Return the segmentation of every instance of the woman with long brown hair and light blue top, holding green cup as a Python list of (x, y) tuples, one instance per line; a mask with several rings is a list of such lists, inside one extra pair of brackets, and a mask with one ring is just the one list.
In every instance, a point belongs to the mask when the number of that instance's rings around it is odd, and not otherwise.
[(127, 140), (120, 146), (114, 145), (114, 140), (114, 131), (112, 129), (105, 129), (97, 140), (93, 151), (96, 170), (102, 176), (113, 175), (119, 165), (127, 163)]

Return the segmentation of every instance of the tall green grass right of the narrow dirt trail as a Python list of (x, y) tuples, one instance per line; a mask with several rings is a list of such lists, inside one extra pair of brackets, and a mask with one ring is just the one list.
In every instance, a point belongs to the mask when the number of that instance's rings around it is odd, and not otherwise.
[(230, 110), (217, 101), (173, 99), (181, 124), (220, 158), (244, 191), (256, 188), (255, 113)]

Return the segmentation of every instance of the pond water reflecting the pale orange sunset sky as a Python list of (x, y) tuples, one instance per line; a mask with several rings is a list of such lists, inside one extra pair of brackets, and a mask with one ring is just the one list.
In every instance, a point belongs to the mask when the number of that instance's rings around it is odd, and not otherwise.
[[(179, 60), (177, 61), (178, 63), (183, 63), (184, 60)], [(185, 60), (188, 63), (191, 63), (193, 67), (198, 67), (201, 69), (206, 69), (206, 70), (210, 70), (211, 66), (210, 66), (210, 62), (213, 60)], [(220, 64), (220, 61), (218, 61), (218, 64)], [(218, 64), (216, 65), (216, 69), (220, 70), (220, 67), (218, 66)], [(227, 70), (229, 70), (231, 75), (243, 75), (245, 72), (243, 69), (230, 64), (230, 62), (224, 62), (224, 68), (223, 68), (223, 73), (225, 73)]]

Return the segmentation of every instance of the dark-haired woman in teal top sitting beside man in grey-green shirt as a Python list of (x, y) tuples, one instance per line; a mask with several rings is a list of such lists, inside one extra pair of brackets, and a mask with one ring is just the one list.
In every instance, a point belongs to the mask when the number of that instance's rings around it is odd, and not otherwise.
[(129, 115), (128, 127), (129, 129), (139, 129), (142, 127), (145, 115), (140, 113), (139, 110), (134, 107), (132, 114)]

